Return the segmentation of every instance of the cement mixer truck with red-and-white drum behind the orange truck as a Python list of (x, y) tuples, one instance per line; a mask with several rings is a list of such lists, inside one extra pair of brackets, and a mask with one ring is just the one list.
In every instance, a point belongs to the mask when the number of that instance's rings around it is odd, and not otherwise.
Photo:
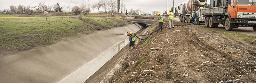
[[(192, 23), (192, 13), (196, 11), (199, 14), (200, 9), (204, 9), (207, 0), (189, 0), (188, 3), (183, 3), (178, 6), (180, 22)], [(198, 19), (200, 18), (197, 14)], [(203, 21), (204, 22), (204, 21)], [(199, 23), (203, 23), (199, 22)]]

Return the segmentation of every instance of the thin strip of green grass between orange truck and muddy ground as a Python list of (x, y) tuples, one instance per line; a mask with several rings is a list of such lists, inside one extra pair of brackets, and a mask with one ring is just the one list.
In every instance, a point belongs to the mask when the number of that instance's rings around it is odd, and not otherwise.
[(234, 38), (234, 39), (238, 39), (238, 40), (253, 41), (254, 39), (256, 39), (256, 37), (254, 37), (254, 36), (248, 36), (248, 35), (239, 34), (239, 33), (231, 32), (231, 31), (223, 31), (223, 30), (217, 30), (217, 29), (212, 29), (212, 28), (201, 28), (201, 29), (209, 30), (209, 31), (218, 31), (221, 35), (225, 35), (228, 38)]

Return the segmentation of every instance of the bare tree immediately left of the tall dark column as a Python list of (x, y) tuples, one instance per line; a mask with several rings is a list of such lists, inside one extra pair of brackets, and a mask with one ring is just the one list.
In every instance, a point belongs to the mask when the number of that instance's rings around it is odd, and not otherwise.
[(109, 14), (112, 15), (112, 17), (115, 17), (116, 14), (116, 8), (117, 8), (117, 3), (116, 1), (110, 0), (108, 1), (108, 10), (109, 10)]

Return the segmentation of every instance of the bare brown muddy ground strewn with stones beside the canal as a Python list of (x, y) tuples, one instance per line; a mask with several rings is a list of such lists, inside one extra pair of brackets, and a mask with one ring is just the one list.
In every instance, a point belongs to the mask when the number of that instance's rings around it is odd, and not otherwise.
[[(256, 83), (256, 44), (202, 28), (193, 24), (164, 28), (148, 40), (137, 41), (135, 49), (125, 53), (122, 67), (104, 82)], [(161, 49), (149, 50), (156, 47)]]

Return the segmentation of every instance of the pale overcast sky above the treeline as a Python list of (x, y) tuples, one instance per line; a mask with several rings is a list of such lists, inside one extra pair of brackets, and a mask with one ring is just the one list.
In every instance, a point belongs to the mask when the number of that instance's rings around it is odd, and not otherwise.
[[(95, 4), (96, 2), (98, 2), (99, 0), (60, 0), (60, 6), (65, 5), (64, 10), (68, 11), (68, 9), (66, 8), (67, 5), (69, 5), (70, 3), (70, 7), (72, 8), (73, 6), (75, 6), (75, 2), (76, 5), (81, 5), (81, 3), (85, 4)], [(117, 0), (115, 0), (117, 2)], [(174, 8), (175, 6), (179, 6), (180, 3), (187, 3), (189, 0), (174, 0)], [(14, 6), (18, 6), (19, 4), (24, 5), (24, 6), (38, 6), (39, 2), (44, 2), (45, 5), (53, 5), (54, 3), (57, 3), (58, 0), (1, 0), (0, 1), (0, 10), (4, 10), (4, 9), (8, 9), (10, 8), (10, 5), (14, 5)], [(77, 3), (79, 2), (79, 3)], [(167, 9), (171, 10), (171, 7), (173, 5), (173, 0), (167, 0)], [(209, 3), (210, 1), (208, 0), (207, 3)], [(166, 0), (121, 0), (121, 3), (124, 3), (126, 5), (125, 9), (127, 9), (127, 12), (129, 12), (129, 10), (132, 9), (141, 9), (142, 11), (144, 11), (145, 13), (152, 13), (152, 11), (156, 10), (156, 11), (160, 11), (161, 13), (163, 13), (164, 10), (166, 10)], [(53, 10), (53, 9), (52, 9)], [(124, 9), (123, 9), (124, 10)], [(91, 8), (92, 11), (92, 8)], [(104, 11), (103, 8), (100, 8), (99, 11)], [(107, 9), (108, 11), (108, 9)], [(94, 12), (97, 12), (97, 9), (94, 9)]]

